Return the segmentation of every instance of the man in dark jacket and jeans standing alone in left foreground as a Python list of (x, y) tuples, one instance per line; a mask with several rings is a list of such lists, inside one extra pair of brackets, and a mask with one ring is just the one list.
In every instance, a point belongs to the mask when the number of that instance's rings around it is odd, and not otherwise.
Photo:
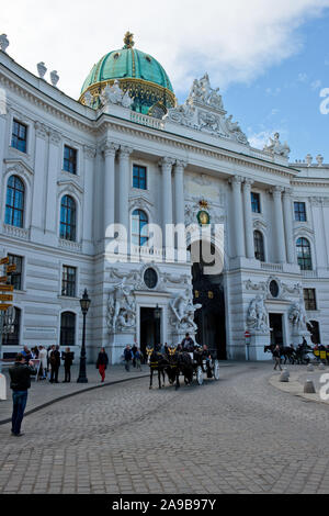
[(21, 437), (21, 425), (24, 417), (24, 411), (27, 402), (27, 390), (31, 388), (31, 375), (36, 374), (33, 362), (29, 364), (22, 354), (18, 354), (15, 363), (9, 369), (10, 389), (12, 390), (12, 427), (11, 434)]

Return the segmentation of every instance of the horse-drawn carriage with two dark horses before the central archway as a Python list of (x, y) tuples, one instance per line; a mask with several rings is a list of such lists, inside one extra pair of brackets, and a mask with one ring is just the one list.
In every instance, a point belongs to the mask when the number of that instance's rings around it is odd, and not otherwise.
[(161, 379), (164, 385), (166, 374), (170, 384), (175, 384), (175, 389), (180, 388), (180, 375), (184, 377), (186, 385), (191, 385), (194, 378), (197, 384), (202, 385), (205, 375), (219, 380), (219, 361), (200, 347), (195, 347), (193, 352), (181, 350), (179, 347), (170, 347), (164, 354), (154, 348), (147, 348), (146, 352), (150, 368), (150, 389), (152, 389), (152, 378), (156, 371), (159, 389), (162, 386)]

